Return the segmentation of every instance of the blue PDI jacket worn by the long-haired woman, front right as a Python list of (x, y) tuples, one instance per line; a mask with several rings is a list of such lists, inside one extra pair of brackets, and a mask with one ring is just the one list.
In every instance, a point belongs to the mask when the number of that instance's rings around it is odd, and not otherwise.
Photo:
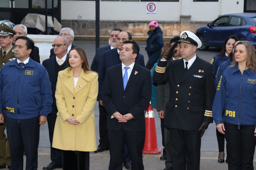
[[(222, 117), (222, 112), (224, 115)], [(248, 68), (241, 74), (238, 64), (227, 68), (221, 76), (214, 102), (213, 119), (238, 125), (256, 124), (256, 72)]]

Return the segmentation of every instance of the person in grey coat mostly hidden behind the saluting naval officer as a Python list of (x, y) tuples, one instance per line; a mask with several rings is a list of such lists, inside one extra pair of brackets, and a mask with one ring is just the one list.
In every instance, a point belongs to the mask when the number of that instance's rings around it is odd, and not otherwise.
[[(174, 45), (177, 41), (179, 41), (179, 36), (174, 36), (171, 41), (170, 45)], [(180, 59), (179, 54), (179, 44), (175, 48), (177, 52), (174, 56), (168, 61), (171, 60), (178, 60)], [(157, 110), (159, 117), (161, 118), (161, 133), (162, 133), (162, 144), (163, 144), (163, 155), (160, 157), (161, 160), (165, 160), (165, 168), (164, 170), (172, 170), (172, 159), (170, 154), (170, 146), (169, 146), (169, 128), (164, 127), (164, 113), (166, 112), (165, 105), (169, 101), (169, 83), (159, 83), (157, 84)]]

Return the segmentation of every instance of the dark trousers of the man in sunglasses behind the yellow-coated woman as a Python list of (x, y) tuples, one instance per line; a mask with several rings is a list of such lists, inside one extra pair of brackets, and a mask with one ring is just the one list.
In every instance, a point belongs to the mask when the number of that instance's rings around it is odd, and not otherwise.
[(61, 165), (61, 151), (59, 149), (52, 147), (52, 139), (53, 139), (53, 132), (54, 126), (56, 122), (57, 115), (56, 113), (50, 113), (47, 116), (47, 123), (48, 123), (48, 130), (49, 130), (49, 138), (51, 143), (51, 160), (53, 163)]

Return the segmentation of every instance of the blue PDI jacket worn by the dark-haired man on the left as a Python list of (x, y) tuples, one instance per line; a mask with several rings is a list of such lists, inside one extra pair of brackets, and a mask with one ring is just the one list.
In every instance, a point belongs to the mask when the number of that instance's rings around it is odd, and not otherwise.
[(0, 71), (0, 109), (14, 119), (47, 117), (52, 111), (52, 90), (44, 66), (29, 58), (19, 71), (17, 60), (6, 63)]

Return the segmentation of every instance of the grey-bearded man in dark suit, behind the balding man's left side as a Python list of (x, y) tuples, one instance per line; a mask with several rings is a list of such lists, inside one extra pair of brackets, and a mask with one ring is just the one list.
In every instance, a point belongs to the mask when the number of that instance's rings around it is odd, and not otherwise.
[[(113, 28), (110, 32), (110, 36), (109, 36), (109, 40), (108, 40), (108, 44), (107, 46), (105, 47), (100, 47), (100, 48), (97, 48), (96, 49), (96, 54), (93, 58), (93, 61), (92, 61), (92, 65), (91, 65), (91, 70), (92, 71), (95, 71), (95, 72), (98, 72), (98, 68), (99, 68), (99, 62), (100, 62), (100, 59), (103, 55), (103, 52), (107, 51), (107, 50), (110, 50), (110, 49), (113, 49), (113, 48), (116, 48), (116, 42), (117, 42), (117, 35), (119, 32), (121, 32), (122, 30), (120, 28)], [(99, 139), (100, 140), (100, 139)], [(100, 142), (99, 142), (100, 143)]]

